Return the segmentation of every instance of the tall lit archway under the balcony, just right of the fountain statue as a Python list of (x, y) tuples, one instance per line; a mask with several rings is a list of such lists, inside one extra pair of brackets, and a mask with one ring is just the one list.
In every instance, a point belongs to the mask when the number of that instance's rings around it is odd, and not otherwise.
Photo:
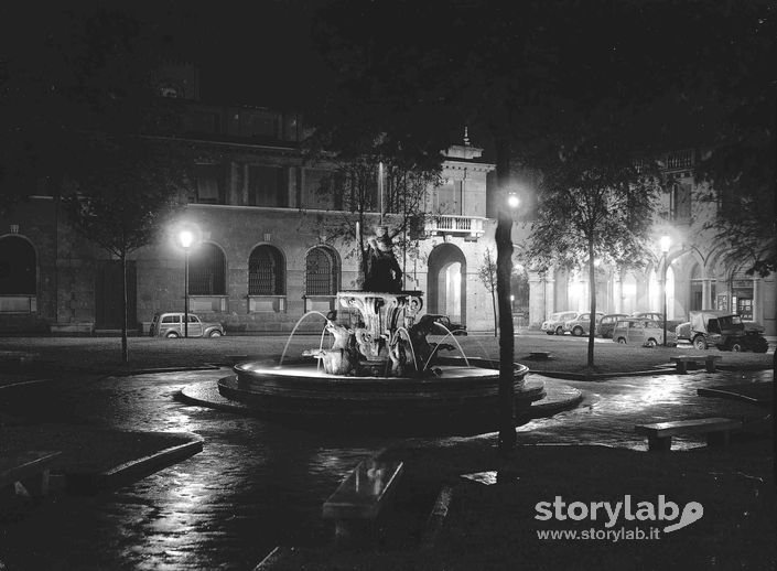
[(436, 246), (429, 255), (428, 313), (441, 313), (466, 324), (466, 258), (452, 244)]

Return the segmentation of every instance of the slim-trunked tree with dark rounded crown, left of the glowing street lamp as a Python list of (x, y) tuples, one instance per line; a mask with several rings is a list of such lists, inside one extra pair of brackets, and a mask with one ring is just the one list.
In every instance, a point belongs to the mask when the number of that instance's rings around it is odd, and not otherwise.
[(169, 144), (136, 137), (87, 137), (82, 158), (85, 168), (68, 174), (63, 205), (76, 231), (121, 262), (121, 358), (128, 363), (127, 257), (159, 239), (180, 204), (185, 170)]

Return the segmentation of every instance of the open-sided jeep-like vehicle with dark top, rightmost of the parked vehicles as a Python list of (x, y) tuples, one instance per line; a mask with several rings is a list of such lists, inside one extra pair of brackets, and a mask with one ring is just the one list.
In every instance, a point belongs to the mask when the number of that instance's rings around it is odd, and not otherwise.
[(742, 316), (725, 311), (691, 311), (691, 321), (676, 328), (677, 338), (690, 341), (697, 349), (709, 346), (720, 351), (766, 353), (769, 347), (760, 327), (746, 326)]

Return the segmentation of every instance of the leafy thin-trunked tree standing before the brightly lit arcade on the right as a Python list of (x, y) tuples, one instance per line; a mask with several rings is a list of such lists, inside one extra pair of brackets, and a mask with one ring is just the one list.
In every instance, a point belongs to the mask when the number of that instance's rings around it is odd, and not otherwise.
[(587, 366), (594, 367), (596, 261), (634, 265), (645, 259), (658, 181), (612, 143), (594, 141), (571, 149), (543, 173), (529, 257), (544, 267), (587, 266)]

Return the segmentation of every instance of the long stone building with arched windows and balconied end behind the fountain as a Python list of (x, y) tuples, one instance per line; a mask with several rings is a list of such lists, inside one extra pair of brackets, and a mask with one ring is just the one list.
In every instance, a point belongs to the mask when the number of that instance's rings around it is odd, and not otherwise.
[[(319, 192), (327, 170), (303, 159), (300, 115), (206, 105), (197, 85), (194, 73), (160, 85), (186, 99), (177, 140), (191, 149), (195, 180), (166, 237), (129, 257), (130, 328), (148, 332), (154, 312), (183, 311), (187, 266), (192, 313), (228, 334), (291, 331), (307, 312), (335, 309), (338, 290), (356, 288), (354, 244), (326, 229), (346, 213), (336, 192)], [(493, 326), (490, 294), (476, 278), (493, 235), (485, 205), (494, 165), (482, 154), (466, 138), (449, 149), (442, 184), (429, 188), (436, 215), (418, 233), (418, 254), (398, 252), (404, 287), (425, 292), (425, 312), (472, 328)], [(120, 328), (120, 262), (73, 231), (52, 193), (30, 194), (0, 219), (0, 331)], [(187, 254), (175, 240), (182, 225), (197, 234)]]

